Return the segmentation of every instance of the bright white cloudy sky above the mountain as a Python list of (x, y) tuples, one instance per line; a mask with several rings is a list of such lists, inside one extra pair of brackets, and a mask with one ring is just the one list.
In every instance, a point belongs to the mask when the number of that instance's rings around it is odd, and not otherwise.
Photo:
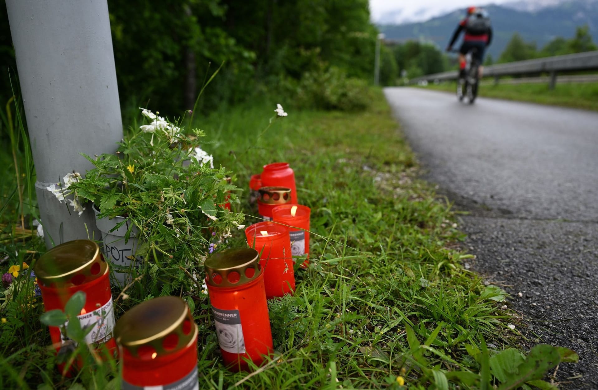
[[(420, 21), (438, 16), (457, 8), (467, 8), (471, 5), (501, 4), (513, 0), (370, 0), (370, 10), (374, 22), (385, 21), (388, 18), (396, 22), (405, 19)], [(393, 11), (401, 11), (393, 12)]]

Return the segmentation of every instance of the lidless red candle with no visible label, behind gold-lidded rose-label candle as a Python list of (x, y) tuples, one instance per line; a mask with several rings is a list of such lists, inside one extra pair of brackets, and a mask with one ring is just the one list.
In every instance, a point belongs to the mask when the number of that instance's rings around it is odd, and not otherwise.
[(249, 247), (260, 253), (264, 268), (266, 297), (282, 297), (295, 291), (295, 273), (291, 256), (291, 238), (288, 226), (264, 221), (245, 229)]

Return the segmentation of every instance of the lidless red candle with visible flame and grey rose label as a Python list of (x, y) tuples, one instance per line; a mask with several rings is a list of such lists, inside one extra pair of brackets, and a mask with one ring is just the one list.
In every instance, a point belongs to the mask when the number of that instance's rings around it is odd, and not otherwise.
[[(309, 216), (310, 208), (300, 204), (282, 204), (272, 209), (273, 221), (289, 226), (293, 256), (309, 257)], [(303, 265), (307, 264), (306, 260)]]

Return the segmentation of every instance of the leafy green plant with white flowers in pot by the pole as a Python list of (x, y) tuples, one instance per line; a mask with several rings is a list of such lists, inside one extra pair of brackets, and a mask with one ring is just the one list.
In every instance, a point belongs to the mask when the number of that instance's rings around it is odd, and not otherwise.
[(139, 274), (149, 272), (164, 294), (183, 284), (189, 291), (194, 281), (181, 268), (197, 271), (212, 241), (243, 228), (244, 216), (225, 207), (238, 203), (236, 188), (227, 182), (231, 172), (213, 168), (200, 148), (202, 130), (185, 134), (184, 117), (169, 121), (146, 109), (142, 115), (148, 124), (130, 128), (116, 153), (85, 156), (93, 169), (69, 173), (48, 191), (79, 214), (93, 202), (99, 219), (125, 217), (112, 230), (127, 223), (125, 242), (135, 231), (135, 256), (145, 259)]

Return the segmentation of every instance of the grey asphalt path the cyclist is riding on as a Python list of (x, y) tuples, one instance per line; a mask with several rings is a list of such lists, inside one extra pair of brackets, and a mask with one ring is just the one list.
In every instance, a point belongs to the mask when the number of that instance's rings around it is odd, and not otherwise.
[(420, 88), (385, 94), (426, 179), (470, 212), (472, 266), (512, 294), (527, 345), (575, 350), (579, 363), (562, 364), (557, 379), (598, 389), (598, 113), (466, 105)]

